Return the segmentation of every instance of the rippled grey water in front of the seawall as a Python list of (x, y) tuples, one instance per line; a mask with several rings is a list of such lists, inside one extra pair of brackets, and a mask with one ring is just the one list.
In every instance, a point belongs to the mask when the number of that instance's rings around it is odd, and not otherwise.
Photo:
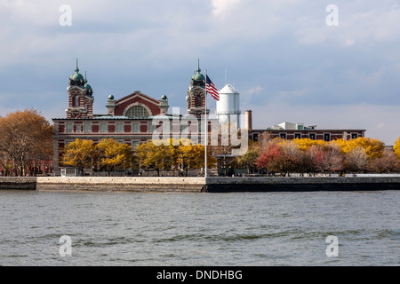
[[(0, 265), (398, 266), (399, 201), (396, 191), (0, 191)], [(60, 256), (63, 235), (71, 256)]]

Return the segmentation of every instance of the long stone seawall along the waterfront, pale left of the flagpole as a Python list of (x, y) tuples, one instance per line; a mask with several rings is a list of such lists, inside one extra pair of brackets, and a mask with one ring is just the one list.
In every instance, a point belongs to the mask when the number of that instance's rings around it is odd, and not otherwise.
[(400, 177), (0, 177), (0, 190), (228, 193), (400, 190)]

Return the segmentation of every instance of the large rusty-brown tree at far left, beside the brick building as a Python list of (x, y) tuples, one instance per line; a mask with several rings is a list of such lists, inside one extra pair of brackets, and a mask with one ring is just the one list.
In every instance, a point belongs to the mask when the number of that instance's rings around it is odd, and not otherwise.
[(29, 162), (35, 175), (37, 161), (52, 159), (52, 134), (52, 125), (33, 108), (7, 114), (0, 117), (0, 152), (17, 175), (26, 175)]

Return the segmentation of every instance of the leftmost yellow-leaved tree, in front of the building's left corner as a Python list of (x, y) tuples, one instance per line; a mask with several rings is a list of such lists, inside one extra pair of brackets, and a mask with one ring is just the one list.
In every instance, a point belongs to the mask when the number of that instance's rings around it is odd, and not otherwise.
[(83, 175), (84, 169), (92, 169), (95, 157), (95, 146), (91, 140), (76, 139), (64, 148), (62, 163), (74, 167)]

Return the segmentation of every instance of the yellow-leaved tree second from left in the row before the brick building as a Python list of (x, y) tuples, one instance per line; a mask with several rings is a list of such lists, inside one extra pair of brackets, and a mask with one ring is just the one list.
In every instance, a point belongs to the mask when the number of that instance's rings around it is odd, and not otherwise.
[(108, 171), (127, 170), (132, 167), (132, 148), (116, 142), (113, 138), (104, 138), (96, 145), (100, 167)]

